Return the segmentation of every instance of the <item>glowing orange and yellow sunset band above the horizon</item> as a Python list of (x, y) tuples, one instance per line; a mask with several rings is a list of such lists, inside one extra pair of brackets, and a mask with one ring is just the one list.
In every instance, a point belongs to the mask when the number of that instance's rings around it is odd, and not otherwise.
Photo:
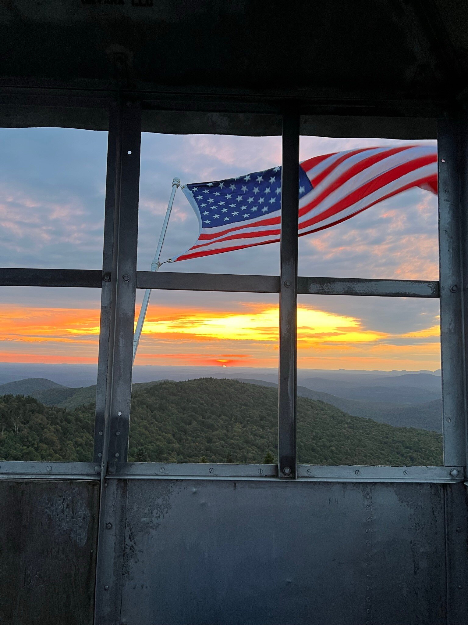
[[(427, 319), (429, 321), (429, 319)], [(437, 321), (437, 320), (436, 320)], [(0, 307), (3, 362), (97, 361), (99, 310)], [(361, 319), (298, 307), (298, 364), (310, 368), (437, 369), (439, 326), (401, 334)], [(150, 306), (136, 364), (276, 367), (278, 307), (234, 304), (228, 311)]]

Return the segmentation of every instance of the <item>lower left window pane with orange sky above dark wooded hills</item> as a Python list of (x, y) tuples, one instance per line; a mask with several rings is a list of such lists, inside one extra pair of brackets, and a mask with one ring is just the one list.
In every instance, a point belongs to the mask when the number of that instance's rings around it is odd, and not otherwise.
[(1, 287), (0, 459), (92, 461), (100, 289)]

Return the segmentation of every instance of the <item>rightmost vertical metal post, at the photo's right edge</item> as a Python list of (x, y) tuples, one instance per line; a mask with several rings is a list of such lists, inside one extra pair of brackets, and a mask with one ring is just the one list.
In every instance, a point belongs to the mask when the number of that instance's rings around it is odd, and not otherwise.
[(444, 464), (466, 464), (460, 124), (437, 126)]

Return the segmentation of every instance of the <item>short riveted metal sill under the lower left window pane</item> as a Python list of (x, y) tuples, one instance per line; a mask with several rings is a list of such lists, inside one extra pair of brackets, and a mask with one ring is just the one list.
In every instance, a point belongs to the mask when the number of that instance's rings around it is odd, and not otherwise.
[(100, 479), (100, 466), (94, 462), (0, 462), (0, 479), (12, 477)]

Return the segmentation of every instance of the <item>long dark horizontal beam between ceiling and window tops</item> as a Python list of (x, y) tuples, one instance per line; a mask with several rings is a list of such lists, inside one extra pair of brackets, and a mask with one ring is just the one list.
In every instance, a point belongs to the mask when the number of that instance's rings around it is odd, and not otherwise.
[(341, 89), (246, 89), (175, 88), (158, 85), (138, 86), (131, 91), (115, 85), (92, 84), (71, 89), (66, 84), (53, 88), (32, 84), (12, 84), (0, 79), (0, 105), (51, 106), (64, 108), (109, 108), (118, 97), (140, 100), (145, 110), (207, 111), (218, 113), (281, 114), (285, 104), (293, 103), (304, 114), (349, 114), (374, 116), (432, 117), (447, 108), (449, 100), (421, 93), (408, 98), (406, 93), (344, 91)]

